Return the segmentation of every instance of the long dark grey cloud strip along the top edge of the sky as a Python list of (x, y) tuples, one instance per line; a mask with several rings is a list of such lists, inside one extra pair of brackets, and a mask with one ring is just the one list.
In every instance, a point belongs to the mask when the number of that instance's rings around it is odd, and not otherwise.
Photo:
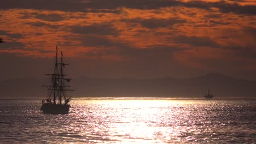
[(24, 8), (24, 9), (48, 9), (48, 10), (61, 10), (61, 11), (84, 11), (85, 9), (117, 9), (120, 7), (137, 8), (137, 9), (154, 9), (160, 7), (168, 7), (177, 5), (177, 1), (153, 1), (153, 0), (94, 0), (94, 1), (72, 1), (72, 0), (9, 0), (1, 3), (0, 8)]

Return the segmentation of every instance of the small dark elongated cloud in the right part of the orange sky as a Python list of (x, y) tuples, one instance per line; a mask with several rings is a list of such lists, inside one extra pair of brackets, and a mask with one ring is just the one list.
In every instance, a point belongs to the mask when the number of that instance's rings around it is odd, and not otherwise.
[(186, 35), (179, 35), (175, 39), (176, 43), (190, 44), (193, 46), (210, 46), (219, 47), (219, 45), (208, 37), (187, 37)]

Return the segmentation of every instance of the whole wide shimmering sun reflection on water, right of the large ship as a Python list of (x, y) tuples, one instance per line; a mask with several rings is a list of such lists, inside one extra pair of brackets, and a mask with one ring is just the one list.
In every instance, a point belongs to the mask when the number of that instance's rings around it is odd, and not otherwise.
[(65, 130), (71, 133), (69, 136), (89, 143), (214, 142), (244, 129), (238, 123), (247, 122), (242, 115), (252, 111), (246, 104), (251, 101), (237, 101), (76, 99)]

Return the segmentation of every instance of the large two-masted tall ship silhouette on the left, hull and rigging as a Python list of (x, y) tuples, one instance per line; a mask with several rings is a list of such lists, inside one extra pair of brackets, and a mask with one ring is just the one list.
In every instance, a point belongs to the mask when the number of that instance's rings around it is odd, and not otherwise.
[(42, 100), (41, 109), (43, 113), (50, 114), (67, 114), (69, 112), (69, 101), (71, 96), (67, 96), (66, 91), (74, 91), (74, 89), (67, 89), (69, 87), (66, 83), (71, 79), (66, 78), (65, 66), (68, 65), (63, 62), (63, 53), (61, 52), (60, 62), (58, 61), (58, 48), (56, 46), (56, 59), (54, 64), (54, 73), (45, 74), (50, 76), (51, 85), (47, 87), (49, 95), (45, 100)]

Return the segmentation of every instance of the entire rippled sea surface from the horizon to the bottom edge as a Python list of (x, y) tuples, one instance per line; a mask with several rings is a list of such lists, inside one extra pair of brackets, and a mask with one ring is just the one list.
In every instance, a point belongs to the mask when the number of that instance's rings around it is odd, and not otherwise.
[(256, 99), (0, 99), (0, 143), (256, 143)]

